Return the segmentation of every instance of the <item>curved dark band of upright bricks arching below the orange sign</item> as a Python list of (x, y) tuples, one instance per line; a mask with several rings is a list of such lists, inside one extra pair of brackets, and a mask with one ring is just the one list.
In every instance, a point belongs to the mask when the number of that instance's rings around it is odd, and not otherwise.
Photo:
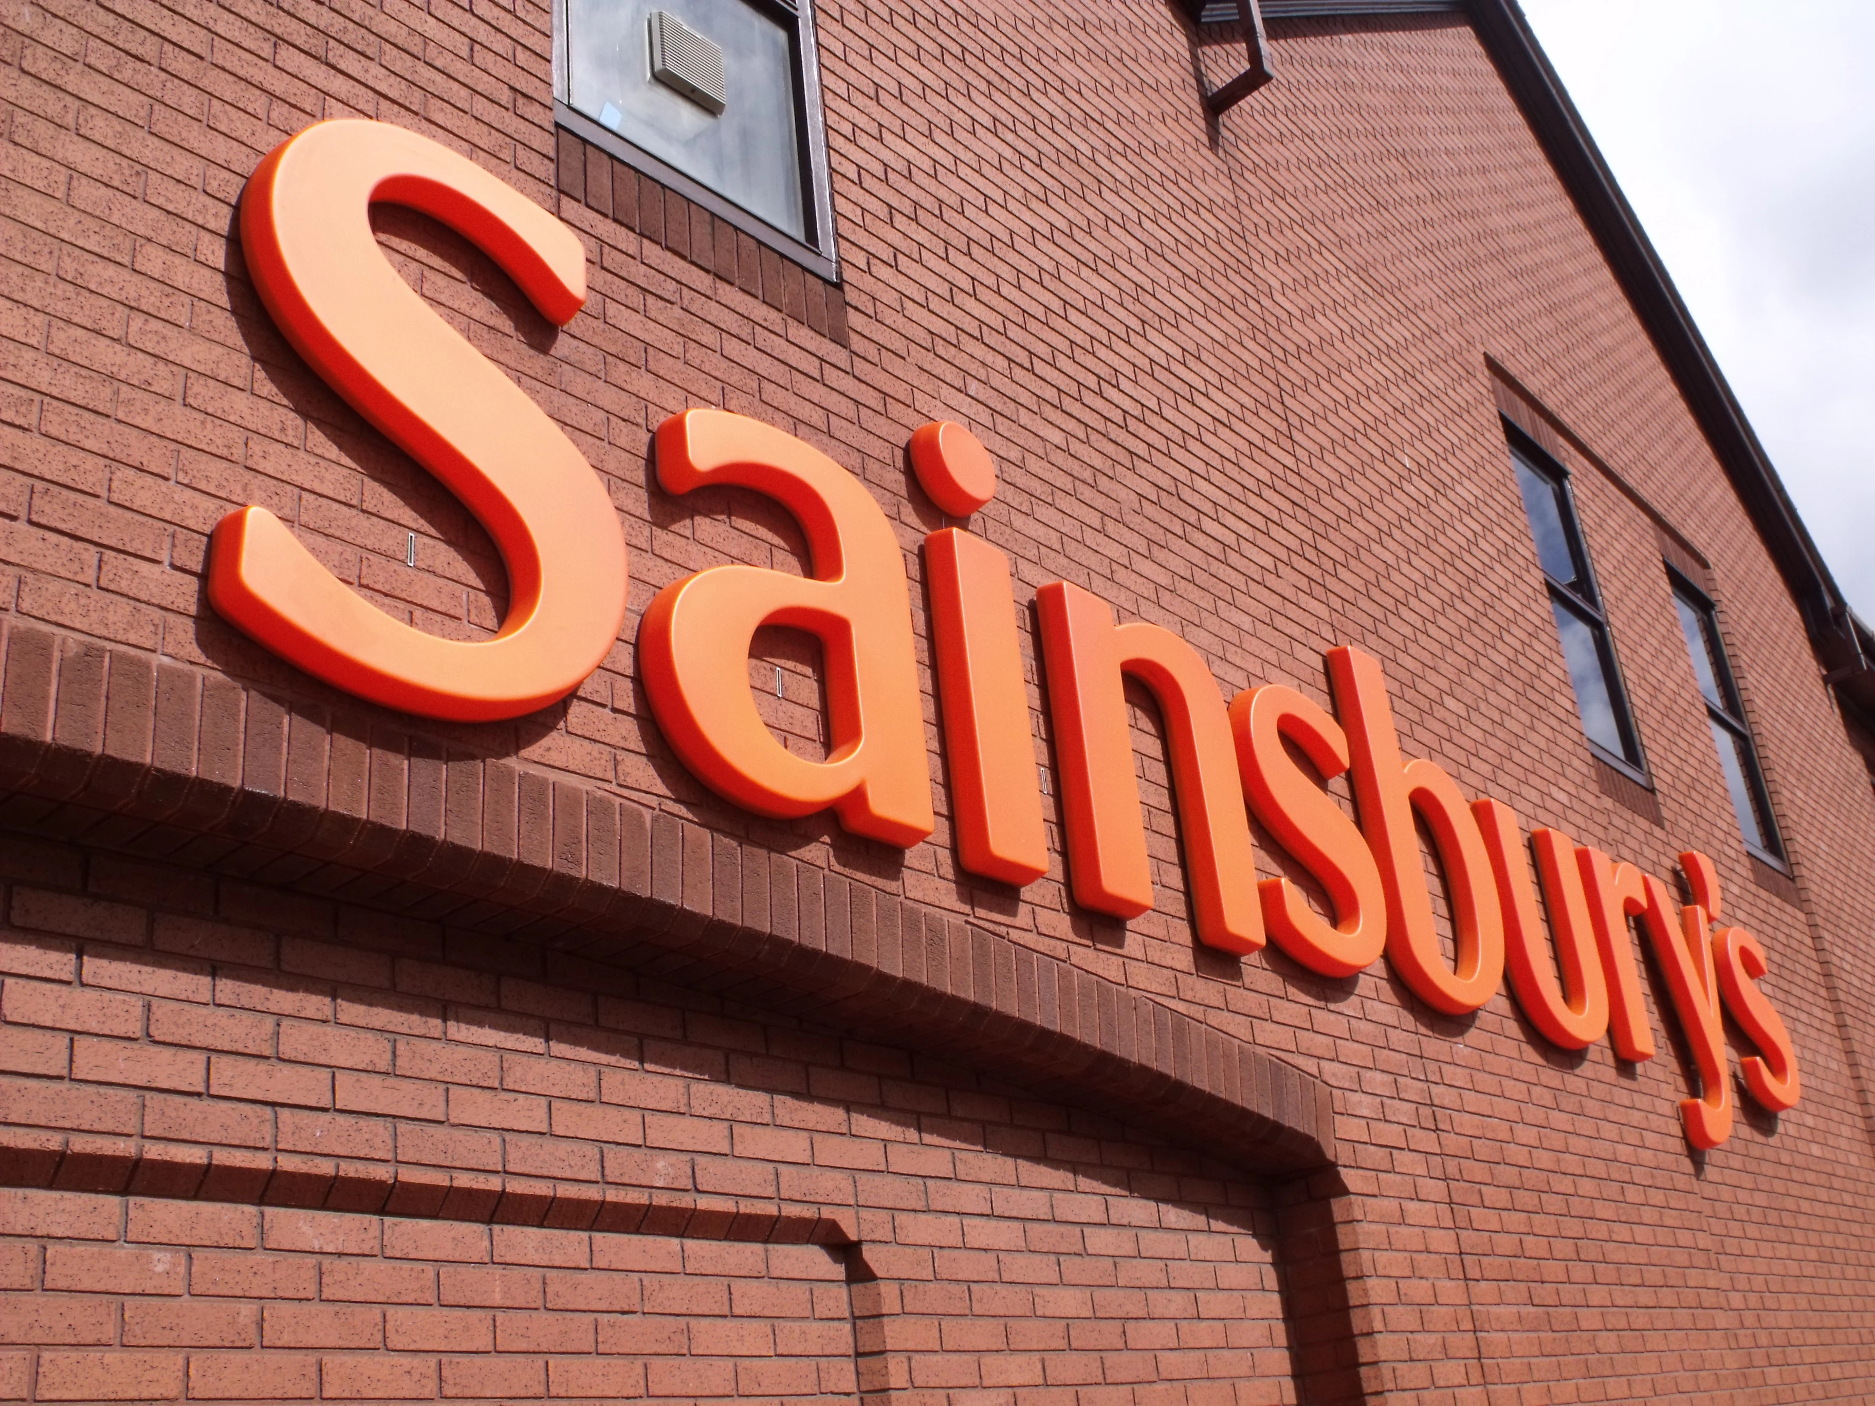
[(611, 793), (11, 622), (0, 823), (619, 962), (932, 1050), (1264, 1175), (1328, 1087), (1118, 982)]

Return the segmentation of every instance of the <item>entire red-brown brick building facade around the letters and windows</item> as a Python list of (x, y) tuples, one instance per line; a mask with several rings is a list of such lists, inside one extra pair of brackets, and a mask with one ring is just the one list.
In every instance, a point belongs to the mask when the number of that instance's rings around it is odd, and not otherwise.
[[(1258, 45), (1164, 0), (819, 0), (832, 219), (801, 236), (559, 101), (564, 22), (8, 0), (0, 1399), (1875, 1395), (1871, 641), (1515, 7), (1266, 0)], [(1275, 79), (1211, 114), (1247, 51)], [(628, 546), (615, 647), (521, 718), (364, 703), (204, 594), (259, 504), (429, 634), (508, 609), (484, 527), (255, 292), (242, 187), (328, 118), (472, 157), (585, 251), (557, 328), (461, 234), (371, 210)], [(660, 487), (690, 407), (812, 444), (891, 521), (928, 840), (750, 814), (652, 718), (662, 589), (816, 570), (772, 499)], [(1048, 793), (1024, 887), (958, 862), (921, 544), (960, 519), (906, 454), (932, 420), (999, 474), (969, 529), (1012, 562)], [(1584, 740), (1511, 442), (1568, 474), (1635, 765)], [(1770, 847), (1674, 579), (1712, 602)], [(1058, 581), (1226, 699), (1344, 714), (1324, 654), (1365, 651), (1408, 757), (1674, 902), (1708, 855), (1802, 1100), (1738, 1084), (1691, 1145), (1697, 1054), (1639, 941), (1646, 1061), (1556, 1048), (1508, 988), (1453, 1016), (1384, 960), (1196, 941), (1136, 682), (1153, 907), (1076, 902), (1031, 606)], [(799, 630), (750, 651), (808, 759), (827, 667)]]

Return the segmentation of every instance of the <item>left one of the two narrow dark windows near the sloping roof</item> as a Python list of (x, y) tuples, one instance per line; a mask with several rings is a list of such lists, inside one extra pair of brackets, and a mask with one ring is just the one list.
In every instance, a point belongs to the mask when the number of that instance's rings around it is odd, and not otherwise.
[(1582, 527), (1575, 517), (1568, 471), (1534, 444), (1511, 439), (1511, 465), (1530, 516), (1530, 536), (1549, 583), (1549, 604), (1556, 613), (1562, 658), (1575, 686), (1575, 707), (1582, 733), (1609, 765), (1637, 782), (1646, 782), (1641, 739), (1635, 735), (1628, 692), (1614, 662), (1614, 641), (1601, 615), (1596, 574), (1582, 546)]

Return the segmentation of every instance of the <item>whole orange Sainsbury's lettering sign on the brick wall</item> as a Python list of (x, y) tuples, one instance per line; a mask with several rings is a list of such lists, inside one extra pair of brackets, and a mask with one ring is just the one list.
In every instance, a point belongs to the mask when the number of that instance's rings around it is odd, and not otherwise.
[[(242, 249), (268, 311), (334, 390), (488, 527), (508, 566), (508, 617), (493, 639), (472, 643), (392, 621), (264, 508), (216, 529), (208, 598), (276, 654), (360, 697), (433, 718), (519, 716), (578, 688), (619, 636), (617, 514), (572, 441), (388, 264), (368, 219), (373, 201), (448, 223), (559, 324), (585, 302), (585, 253), (489, 172), (375, 122), (306, 129), (261, 163), (242, 197)], [(947, 514), (968, 517), (994, 495), (990, 456), (962, 426), (928, 424), (909, 448)], [(801, 523), (812, 564), (810, 576), (712, 566), (652, 600), (638, 666), (677, 755), (763, 815), (831, 808), (855, 834), (900, 847), (924, 840), (934, 814), (911, 596), (885, 512), (819, 450), (724, 411), (666, 420), (656, 472), (669, 493), (737, 486), (774, 499)], [(1009, 561), (969, 531), (945, 529), (924, 540), (924, 579), (958, 862), (1031, 883), (1048, 872), (1048, 838)], [(1328, 977), (1384, 952), (1448, 1014), (1478, 1010), (1508, 975), (1545, 1039), (1581, 1050), (1609, 1037), (1633, 1063), (1656, 1052), (1629, 935), (1637, 922), (1693, 1052), (1697, 1093), (1680, 1104), (1688, 1138), (1714, 1147), (1732, 1127), (1725, 1014), (1757, 1050), (1740, 1061), (1751, 1097), (1770, 1110), (1798, 1100), (1796, 1054), (1757, 986), (1764, 949), (1721, 926), (1704, 855), (1680, 855), (1693, 902), (1678, 904), (1661, 879), (1554, 829), (1526, 845), (1509, 806), (1466, 800), (1436, 763), (1401, 754), (1380, 664), (1354, 647), (1328, 652), (1333, 714), (1281, 684), (1226, 705), (1209, 666), (1170, 630), (1121, 624), (1067, 581), (1044, 585), (1035, 609), (1076, 904), (1118, 919), (1153, 905), (1125, 703), (1134, 679), (1166, 724), (1198, 941), (1249, 954), (1273, 939)], [(756, 710), (750, 643), (769, 624), (823, 647), (825, 761), (793, 755)], [(1322, 787), (1342, 774), (1359, 819)], [(1256, 879), (1249, 814), (1320, 883), (1331, 917), (1290, 879)], [(1451, 896), (1451, 962), (1418, 821)]]

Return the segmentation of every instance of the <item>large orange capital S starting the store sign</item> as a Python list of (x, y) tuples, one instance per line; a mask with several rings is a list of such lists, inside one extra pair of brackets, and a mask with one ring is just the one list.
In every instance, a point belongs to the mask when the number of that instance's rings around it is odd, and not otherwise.
[(472, 643), (401, 624), (266, 508), (216, 527), (208, 600), (266, 649), (373, 703), (459, 722), (516, 718), (578, 688), (619, 637), (624, 538), (572, 441), (384, 259), (373, 201), (458, 231), (561, 326), (585, 302), (585, 249), (467, 157), (382, 122), (308, 127), (242, 193), (242, 251), (261, 302), (326, 384), (482, 521), (508, 568), (508, 617)]

